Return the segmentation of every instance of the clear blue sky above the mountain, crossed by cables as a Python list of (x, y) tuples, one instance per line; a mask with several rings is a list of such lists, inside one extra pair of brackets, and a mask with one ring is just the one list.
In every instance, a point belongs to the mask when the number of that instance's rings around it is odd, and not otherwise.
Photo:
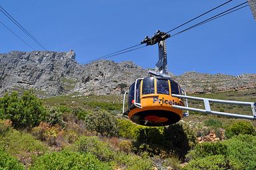
[[(77, 62), (86, 63), (137, 45), (145, 35), (151, 37), (157, 29), (169, 31), (225, 1), (8, 0), (1, 1), (0, 5), (47, 50), (73, 49)], [(244, 1), (233, 0), (190, 25)], [(3, 13), (0, 13), (0, 21), (33, 48), (43, 50)], [(3, 25), (0, 25), (0, 37), (0, 53), (33, 51)], [(256, 22), (250, 8), (245, 7), (167, 39), (168, 69), (175, 75), (186, 71), (229, 75), (256, 73), (255, 51)], [(133, 61), (143, 68), (154, 68), (158, 49), (157, 45), (149, 46), (109, 59), (116, 62)]]

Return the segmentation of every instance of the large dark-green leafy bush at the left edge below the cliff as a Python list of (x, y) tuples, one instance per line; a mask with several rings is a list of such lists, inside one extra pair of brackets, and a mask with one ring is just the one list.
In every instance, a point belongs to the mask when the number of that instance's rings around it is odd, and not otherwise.
[(15, 128), (32, 128), (45, 119), (45, 107), (33, 95), (25, 91), (21, 97), (17, 92), (0, 98), (0, 119), (10, 119)]

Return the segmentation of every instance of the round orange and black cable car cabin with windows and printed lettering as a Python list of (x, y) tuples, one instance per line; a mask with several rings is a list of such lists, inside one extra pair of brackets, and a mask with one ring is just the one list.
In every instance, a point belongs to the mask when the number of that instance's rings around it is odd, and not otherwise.
[(139, 125), (165, 126), (183, 117), (184, 101), (172, 94), (182, 95), (181, 87), (169, 77), (139, 78), (129, 88), (128, 107), (123, 113)]

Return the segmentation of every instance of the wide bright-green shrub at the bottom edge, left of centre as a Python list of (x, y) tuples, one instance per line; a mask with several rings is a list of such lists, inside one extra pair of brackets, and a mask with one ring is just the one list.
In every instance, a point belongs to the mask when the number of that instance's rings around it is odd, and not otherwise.
[(94, 155), (90, 153), (79, 153), (73, 151), (60, 151), (47, 153), (42, 157), (39, 157), (33, 163), (31, 170), (35, 169), (112, 169), (108, 163), (102, 163)]

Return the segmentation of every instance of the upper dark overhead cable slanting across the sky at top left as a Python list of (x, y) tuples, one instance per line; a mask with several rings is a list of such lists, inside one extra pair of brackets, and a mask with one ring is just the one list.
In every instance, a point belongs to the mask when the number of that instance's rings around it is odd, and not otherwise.
[(16, 19), (14, 19), (1, 5), (0, 5), (0, 11), (6, 17), (8, 17), (17, 27), (19, 27), (19, 29), (21, 29), (21, 31), (23, 31), (27, 36), (29, 36), (31, 39), (33, 39), (33, 41), (35, 41), (35, 43), (37, 43), (37, 45), (39, 45), (41, 48), (43, 48), (45, 51), (47, 51), (47, 49), (45, 47), (43, 47), (43, 45), (41, 45), (41, 43), (39, 43), (39, 41), (37, 39), (35, 39), (35, 37), (33, 37), (33, 35), (31, 35), (31, 33), (29, 33), (29, 31), (27, 31), (27, 29), (25, 29), (23, 26), (21, 26), (21, 24), (18, 21), (16, 21)]

